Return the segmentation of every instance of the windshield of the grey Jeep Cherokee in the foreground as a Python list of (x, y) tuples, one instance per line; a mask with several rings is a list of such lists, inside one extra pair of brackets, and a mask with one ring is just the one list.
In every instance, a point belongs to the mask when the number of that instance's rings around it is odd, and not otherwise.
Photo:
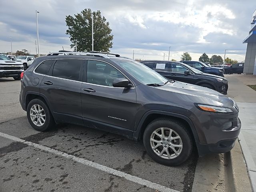
[(116, 62), (143, 84), (164, 85), (168, 80), (159, 73), (136, 61)]

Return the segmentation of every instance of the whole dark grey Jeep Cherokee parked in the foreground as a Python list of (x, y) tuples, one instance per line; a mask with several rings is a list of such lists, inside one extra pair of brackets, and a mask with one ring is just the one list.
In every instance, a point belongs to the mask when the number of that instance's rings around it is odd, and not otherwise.
[(59, 54), (36, 58), (21, 75), (20, 104), (34, 129), (68, 122), (118, 133), (143, 140), (150, 157), (169, 166), (194, 146), (200, 156), (233, 148), (241, 123), (231, 98), (118, 54)]

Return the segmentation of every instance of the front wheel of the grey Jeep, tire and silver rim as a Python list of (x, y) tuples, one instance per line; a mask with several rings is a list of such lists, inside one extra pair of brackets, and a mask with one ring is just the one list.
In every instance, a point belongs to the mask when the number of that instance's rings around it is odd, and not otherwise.
[(143, 143), (153, 160), (168, 166), (182, 164), (192, 152), (192, 138), (186, 127), (168, 118), (152, 121), (144, 131)]

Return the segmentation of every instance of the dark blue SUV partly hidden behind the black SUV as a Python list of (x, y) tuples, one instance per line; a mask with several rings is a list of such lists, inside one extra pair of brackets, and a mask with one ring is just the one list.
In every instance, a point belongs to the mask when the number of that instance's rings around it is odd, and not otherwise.
[(213, 74), (213, 75), (218, 75), (224, 77), (224, 69), (223, 68), (218, 68), (218, 67), (210, 67), (206, 65), (203, 62), (200, 61), (180, 61), (182, 63), (185, 63), (189, 65), (190, 67), (194, 67), (204, 73), (208, 74)]

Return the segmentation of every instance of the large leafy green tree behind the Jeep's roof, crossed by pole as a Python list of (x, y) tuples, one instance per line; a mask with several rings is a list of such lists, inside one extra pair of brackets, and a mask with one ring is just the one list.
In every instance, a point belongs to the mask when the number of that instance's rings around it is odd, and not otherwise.
[(66, 16), (66, 34), (70, 36), (72, 44), (71, 48), (76, 48), (77, 51), (92, 50), (92, 14), (94, 20), (94, 50), (109, 52), (113, 45), (112, 30), (109, 27), (109, 22), (101, 16), (100, 10), (92, 12), (91, 9), (84, 9), (81, 13), (73, 16)]

